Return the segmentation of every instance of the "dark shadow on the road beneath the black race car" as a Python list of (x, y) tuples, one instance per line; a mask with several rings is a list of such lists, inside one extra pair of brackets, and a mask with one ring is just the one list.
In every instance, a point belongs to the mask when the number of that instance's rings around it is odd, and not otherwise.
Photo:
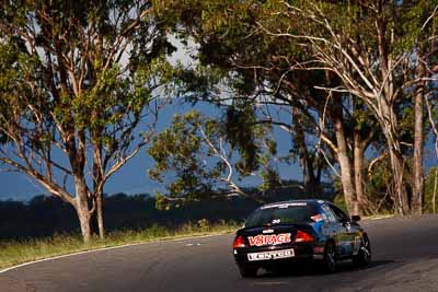
[[(367, 267), (357, 267), (350, 261), (341, 261), (336, 264), (336, 275), (355, 272), (358, 270), (372, 270), (374, 268), (394, 264), (394, 260), (374, 260)], [(307, 277), (307, 276), (326, 276), (318, 264), (300, 264), (296, 267), (290, 266), (278, 266), (270, 270), (261, 269), (258, 271), (258, 278), (278, 278), (278, 277)]]

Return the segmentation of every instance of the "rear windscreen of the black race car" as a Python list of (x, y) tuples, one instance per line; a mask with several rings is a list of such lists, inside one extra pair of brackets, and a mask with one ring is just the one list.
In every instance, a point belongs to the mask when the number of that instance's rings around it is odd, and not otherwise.
[(312, 222), (311, 217), (315, 214), (315, 206), (306, 202), (267, 206), (254, 211), (246, 219), (245, 227)]

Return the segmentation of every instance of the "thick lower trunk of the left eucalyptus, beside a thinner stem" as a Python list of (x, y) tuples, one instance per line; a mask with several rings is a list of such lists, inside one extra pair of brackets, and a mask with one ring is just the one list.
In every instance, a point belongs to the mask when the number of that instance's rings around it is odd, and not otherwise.
[(83, 242), (88, 244), (91, 241), (91, 215), (89, 209), (87, 186), (83, 179), (76, 177), (74, 187), (77, 195), (74, 209), (78, 214)]

